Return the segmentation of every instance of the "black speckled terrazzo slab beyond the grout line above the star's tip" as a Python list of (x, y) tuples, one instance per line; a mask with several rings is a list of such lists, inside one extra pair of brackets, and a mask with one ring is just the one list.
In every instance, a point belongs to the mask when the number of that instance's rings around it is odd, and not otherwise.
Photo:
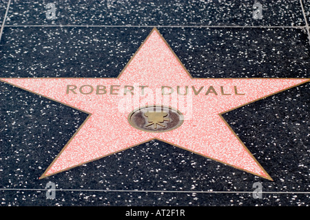
[[(61, 1), (55, 21), (45, 19), (48, 1), (14, 1), (8, 24), (72, 24), (132, 26), (301, 26), (300, 1), (262, 0), (263, 19), (252, 19), (253, 1)], [(125, 16), (124, 16), (125, 15)]]

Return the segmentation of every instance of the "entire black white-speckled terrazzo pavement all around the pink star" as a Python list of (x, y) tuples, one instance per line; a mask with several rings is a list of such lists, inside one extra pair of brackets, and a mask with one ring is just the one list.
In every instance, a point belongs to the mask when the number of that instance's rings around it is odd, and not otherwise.
[[(12, 1), (0, 77), (117, 77), (151, 26), (193, 77), (310, 77), (300, 1), (261, 1), (262, 20), (251, 19), (252, 1), (137, 2), (63, 1), (51, 21), (46, 1)], [(302, 2), (309, 22), (309, 1)], [(223, 114), (273, 181), (156, 140), (39, 180), (87, 114), (0, 82), (0, 204), (309, 206), (309, 94), (304, 83)], [(55, 199), (45, 197), (49, 181), (59, 190)], [(251, 194), (255, 182), (262, 199)]]

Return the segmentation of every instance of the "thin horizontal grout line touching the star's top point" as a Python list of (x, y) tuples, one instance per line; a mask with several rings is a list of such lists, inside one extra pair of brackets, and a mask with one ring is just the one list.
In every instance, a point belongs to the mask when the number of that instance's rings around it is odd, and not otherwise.
[(76, 28), (307, 28), (307, 26), (108, 26), (108, 25), (7, 25), (6, 27), (76, 27)]

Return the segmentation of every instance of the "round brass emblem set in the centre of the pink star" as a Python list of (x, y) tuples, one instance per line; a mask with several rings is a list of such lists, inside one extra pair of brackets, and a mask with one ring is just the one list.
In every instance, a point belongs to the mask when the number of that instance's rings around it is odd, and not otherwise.
[(180, 127), (183, 114), (171, 107), (144, 106), (128, 115), (130, 125), (145, 132), (167, 132)]

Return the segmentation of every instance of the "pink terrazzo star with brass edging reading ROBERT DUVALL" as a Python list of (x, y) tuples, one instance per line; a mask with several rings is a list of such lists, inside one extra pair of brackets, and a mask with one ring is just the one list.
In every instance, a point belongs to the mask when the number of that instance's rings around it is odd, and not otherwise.
[[(158, 139), (266, 179), (271, 177), (221, 114), (309, 81), (194, 79), (156, 28), (118, 78), (0, 80), (89, 114), (40, 178)], [(130, 112), (150, 105), (179, 110), (182, 125), (167, 132), (131, 126)]]

